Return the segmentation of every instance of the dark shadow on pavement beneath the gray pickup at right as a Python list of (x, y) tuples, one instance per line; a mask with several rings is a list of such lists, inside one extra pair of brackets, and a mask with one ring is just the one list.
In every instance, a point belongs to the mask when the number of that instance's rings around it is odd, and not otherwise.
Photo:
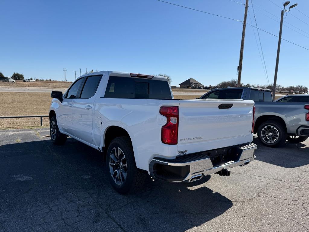
[(309, 147), (304, 143), (286, 141), (282, 147), (270, 148), (264, 146), (256, 137), (253, 137), (253, 143), (257, 145), (256, 160), (285, 168), (309, 164)]

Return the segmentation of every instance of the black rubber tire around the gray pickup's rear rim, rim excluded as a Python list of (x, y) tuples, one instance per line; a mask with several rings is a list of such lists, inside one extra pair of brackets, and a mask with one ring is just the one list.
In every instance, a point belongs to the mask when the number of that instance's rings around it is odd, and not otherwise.
[[(279, 137), (273, 143), (268, 143), (265, 140), (263, 140), (263, 138), (262, 138), (261, 133), (262, 133), (263, 128), (265, 128), (266, 126), (275, 127), (276, 130), (279, 132)], [(257, 136), (258, 136), (260, 142), (262, 144), (264, 144), (265, 146), (268, 146), (268, 147), (279, 147), (279, 146), (282, 146), (286, 142), (287, 132), (286, 132), (285, 126), (281, 122), (274, 121), (274, 120), (269, 120), (269, 121), (263, 122), (259, 126), (259, 128), (257, 129)]]

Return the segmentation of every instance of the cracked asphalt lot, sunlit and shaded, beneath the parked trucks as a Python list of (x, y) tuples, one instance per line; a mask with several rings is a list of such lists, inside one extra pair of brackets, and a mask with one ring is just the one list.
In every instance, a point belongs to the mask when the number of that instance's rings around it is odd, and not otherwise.
[(149, 178), (141, 192), (109, 186), (102, 153), (47, 128), (0, 131), (0, 232), (308, 231), (309, 140), (193, 183)]

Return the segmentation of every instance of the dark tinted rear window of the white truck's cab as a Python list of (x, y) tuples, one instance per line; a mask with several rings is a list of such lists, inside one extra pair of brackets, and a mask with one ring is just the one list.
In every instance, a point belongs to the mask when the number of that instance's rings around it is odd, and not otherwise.
[(104, 97), (171, 99), (171, 91), (167, 81), (110, 76)]

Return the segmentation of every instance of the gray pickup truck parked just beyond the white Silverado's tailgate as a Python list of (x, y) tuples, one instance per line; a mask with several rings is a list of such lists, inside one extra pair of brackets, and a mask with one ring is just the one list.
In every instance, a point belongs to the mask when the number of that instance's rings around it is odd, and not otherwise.
[(213, 89), (199, 99), (253, 100), (254, 133), (266, 146), (280, 146), (286, 140), (301, 143), (309, 137), (309, 102), (273, 102), (271, 90), (253, 87)]

